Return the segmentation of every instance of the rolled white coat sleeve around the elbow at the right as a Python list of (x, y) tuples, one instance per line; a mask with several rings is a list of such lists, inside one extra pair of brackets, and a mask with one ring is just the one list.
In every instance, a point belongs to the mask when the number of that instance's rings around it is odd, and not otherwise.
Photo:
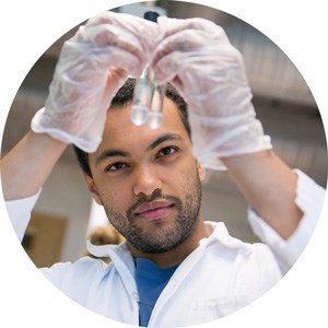
[(325, 199), (325, 189), (303, 172), (295, 169), (298, 180), (295, 203), (303, 211), (303, 218), (296, 231), (289, 239), (283, 239), (253, 210), (248, 211), (248, 221), (254, 233), (273, 251), (282, 273), (285, 273), (304, 250), (320, 216)]

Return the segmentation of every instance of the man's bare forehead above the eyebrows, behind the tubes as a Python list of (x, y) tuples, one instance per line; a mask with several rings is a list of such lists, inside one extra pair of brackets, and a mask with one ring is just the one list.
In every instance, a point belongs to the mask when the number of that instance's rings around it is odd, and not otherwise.
[(110, 108), (107, 113), (103, 141), (97, 152), (114, 147), (140, 148), (142, 143), (151, 143), (154, 139), (166, 133), (179, 134), (183, 140), (190, 142), (176, 105), (167, 97), (164, 101), (162, 125), (155, 130), (148, 125), (138, 127), (131, 122), (131, 105)]

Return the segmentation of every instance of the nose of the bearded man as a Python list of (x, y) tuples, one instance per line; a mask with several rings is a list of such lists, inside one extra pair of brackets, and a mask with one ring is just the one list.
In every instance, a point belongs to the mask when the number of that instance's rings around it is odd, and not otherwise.
[(133, 194), (139, 196), (143, 194), (151, 196), (154, 190), (162, 190), (162, 180), (159, 177), (156, 169), (150, 166), (142, 166), (136, 171), (136, 178), (133, 184)]

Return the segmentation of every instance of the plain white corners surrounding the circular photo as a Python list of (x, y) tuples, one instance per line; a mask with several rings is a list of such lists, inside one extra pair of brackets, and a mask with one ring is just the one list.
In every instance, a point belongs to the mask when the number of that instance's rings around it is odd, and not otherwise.
[[(101, 11), (132, 2), (138, 1), (1, 2), (1, 138), (13, 97), (38, 57), (80, 22)], [(309, 85), (327, 131), (328, 20), (325, 1), (222, 0), (215, 1), (214, 5), (210, 4), (212, 0), (190, 2), (215, 7), (233, 14), (273, 40), (295, 63)], [(0, 211), (1, 327), (126, 327), (85, 311), (48, 283), (19, 245), (2, 196)], [(203, 327), (328, 327), (327, 216), (326, 201), (307, 248), (277, 286), (238, 313)]]

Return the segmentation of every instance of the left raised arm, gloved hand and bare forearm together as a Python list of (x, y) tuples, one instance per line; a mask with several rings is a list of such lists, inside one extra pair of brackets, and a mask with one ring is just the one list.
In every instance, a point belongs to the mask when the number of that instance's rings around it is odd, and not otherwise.
[(5, 200), (35, 195), (67, 144), (96, 150), (110, 101), (128, 74), (141, 72), (154, 26), (105, 12), (65, 43), (45, 107), (34, 116), (32, 131), (1, 160)]

